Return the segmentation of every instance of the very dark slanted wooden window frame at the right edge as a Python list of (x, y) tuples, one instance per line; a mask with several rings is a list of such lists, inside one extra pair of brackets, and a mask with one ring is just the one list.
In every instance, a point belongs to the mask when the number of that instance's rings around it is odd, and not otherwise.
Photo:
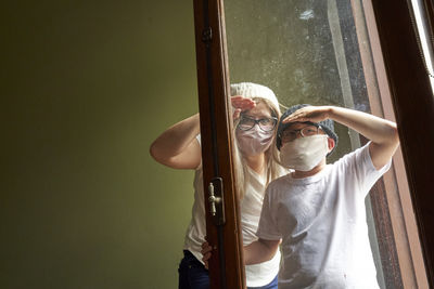
[[(430, 165), (434, 163), (434, 150), (430, 149), (434, 146), (434, 98), (430, 78), (420, 56), (408, 1), (372, 0), (371, 3), (391, 92), (391, 107), (398, 124), (425, 273), (430, 287), (434, 287), (434, 211), (431, 207), (434, 194), (433, 173), (430, 170)], [(429, 22), (431, 25), (432, 16)], [(432, 31), (433, 27), (430, 29)], [(399, 158), (398, 154), (395, 160)], [(399, 181), (403, 179), (399, 178), (400, 173), (397, 174)], [(417, 236), (411, 232), (407, 232), (407, 235)]]

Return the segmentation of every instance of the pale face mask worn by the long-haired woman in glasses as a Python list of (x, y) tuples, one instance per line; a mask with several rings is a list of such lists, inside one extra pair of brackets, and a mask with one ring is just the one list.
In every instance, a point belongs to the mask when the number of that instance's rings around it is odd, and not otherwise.
[(237, 129), (238, 147), (246, 156), (256, 156), (267, 150), (272, 141), (275, 131), (263, 131), (254, 126), (247, 131)]

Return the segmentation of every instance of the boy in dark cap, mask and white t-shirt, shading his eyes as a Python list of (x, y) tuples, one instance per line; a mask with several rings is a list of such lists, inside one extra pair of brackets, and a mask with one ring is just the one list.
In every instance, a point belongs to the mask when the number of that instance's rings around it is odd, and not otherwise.
[[(333, 120), (370, 142), (327, 165), (337, 143)], [(291, 107), (280, 120), (277, 147), (294, 171), (269, 184), (259, 239), (245, 247), (245, 263), (270, 259), (281, 242), (279, 289), (379, 288), (365, 197), (398, 145), (394, 122), (342, 107)]]

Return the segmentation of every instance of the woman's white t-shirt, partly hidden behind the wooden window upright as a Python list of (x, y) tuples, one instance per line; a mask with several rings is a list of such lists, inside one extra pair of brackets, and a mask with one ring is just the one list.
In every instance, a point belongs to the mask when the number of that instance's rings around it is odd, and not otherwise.
[[(197, 141), (200, 142), (200, 136), (197, 136)], [(245, 191), (245, 196), (240, 203), (244, 246), (257, 239), (256, 231), (266, 189), (265, 178), (261, 178), (253, 170), (247, 170), (247, 172), (250, 182)], [(184, 250), (189, 250), (199, 261), (202, 262), (201, 246), (205, 241), (206, 236), (202, 165), (195, 171), (193, 186), (194, 202), (192, 219), (186, 233), (183, 248)], [(245, 277), (247, 286), (259, 287), (272, 281), (276, 275), (278, 275), (279, 264), (280, 252), (278, 251), (270, 261), (255, 265), (246, 265)]]

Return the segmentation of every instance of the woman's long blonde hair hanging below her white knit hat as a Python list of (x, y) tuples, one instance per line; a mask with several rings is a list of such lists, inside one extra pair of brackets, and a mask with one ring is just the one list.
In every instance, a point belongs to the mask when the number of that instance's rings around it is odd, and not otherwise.
[[(252, 97), (253, 101), (256, 103), (265, 103), (267, 107), (270, 109), (270, 113), (273, 117), (280, 118), (281, 113), (279, 106), (276, 106), (275, 103), (272, 103), (269, 100), (263, 98), (263, 97)], [(240, 119), (238, 119), (234, 122), (234, 130), (237, 130), (238, 123)], [(266, 185), (268, 185), (272, 180), (279, 178), (282, 175), (283, 172), (283, 167), (281, 167), (278, 162), (276, 162), (276, 159), (273, 158), (275, 155), (278, 155), (278, 149), (276, 147), (276, 133), (277, 133), (277, 126), (275, 128), (275, 135), (272, 143), (270, 147), (265, 152), (265, 157), (267, 161), (267, 169), (266, 169), (266, 174), (267, 174), (267, 181)], [(237, 192), (239, 194), (239, 198), (243, 199), (245, 195), (245, 191), (247, 187), (247, 184), (250, 182), (247, 173), (248, 167), (245, 158), (240, 152), (240, 148), (238, 147), (238, 142), (237, 137), (234, 139), (234, 147), (233, 147), (233, 158), (234, 158), (234, 173), (235, 173), (235, 186), (237, 186)]]

